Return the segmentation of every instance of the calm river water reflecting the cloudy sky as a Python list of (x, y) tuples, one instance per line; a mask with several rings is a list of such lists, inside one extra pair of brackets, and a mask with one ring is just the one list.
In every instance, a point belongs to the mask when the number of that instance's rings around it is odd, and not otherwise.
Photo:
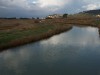
[(100, 75), (99, 30), (76, 27), (0, 53), (0, 75)]

